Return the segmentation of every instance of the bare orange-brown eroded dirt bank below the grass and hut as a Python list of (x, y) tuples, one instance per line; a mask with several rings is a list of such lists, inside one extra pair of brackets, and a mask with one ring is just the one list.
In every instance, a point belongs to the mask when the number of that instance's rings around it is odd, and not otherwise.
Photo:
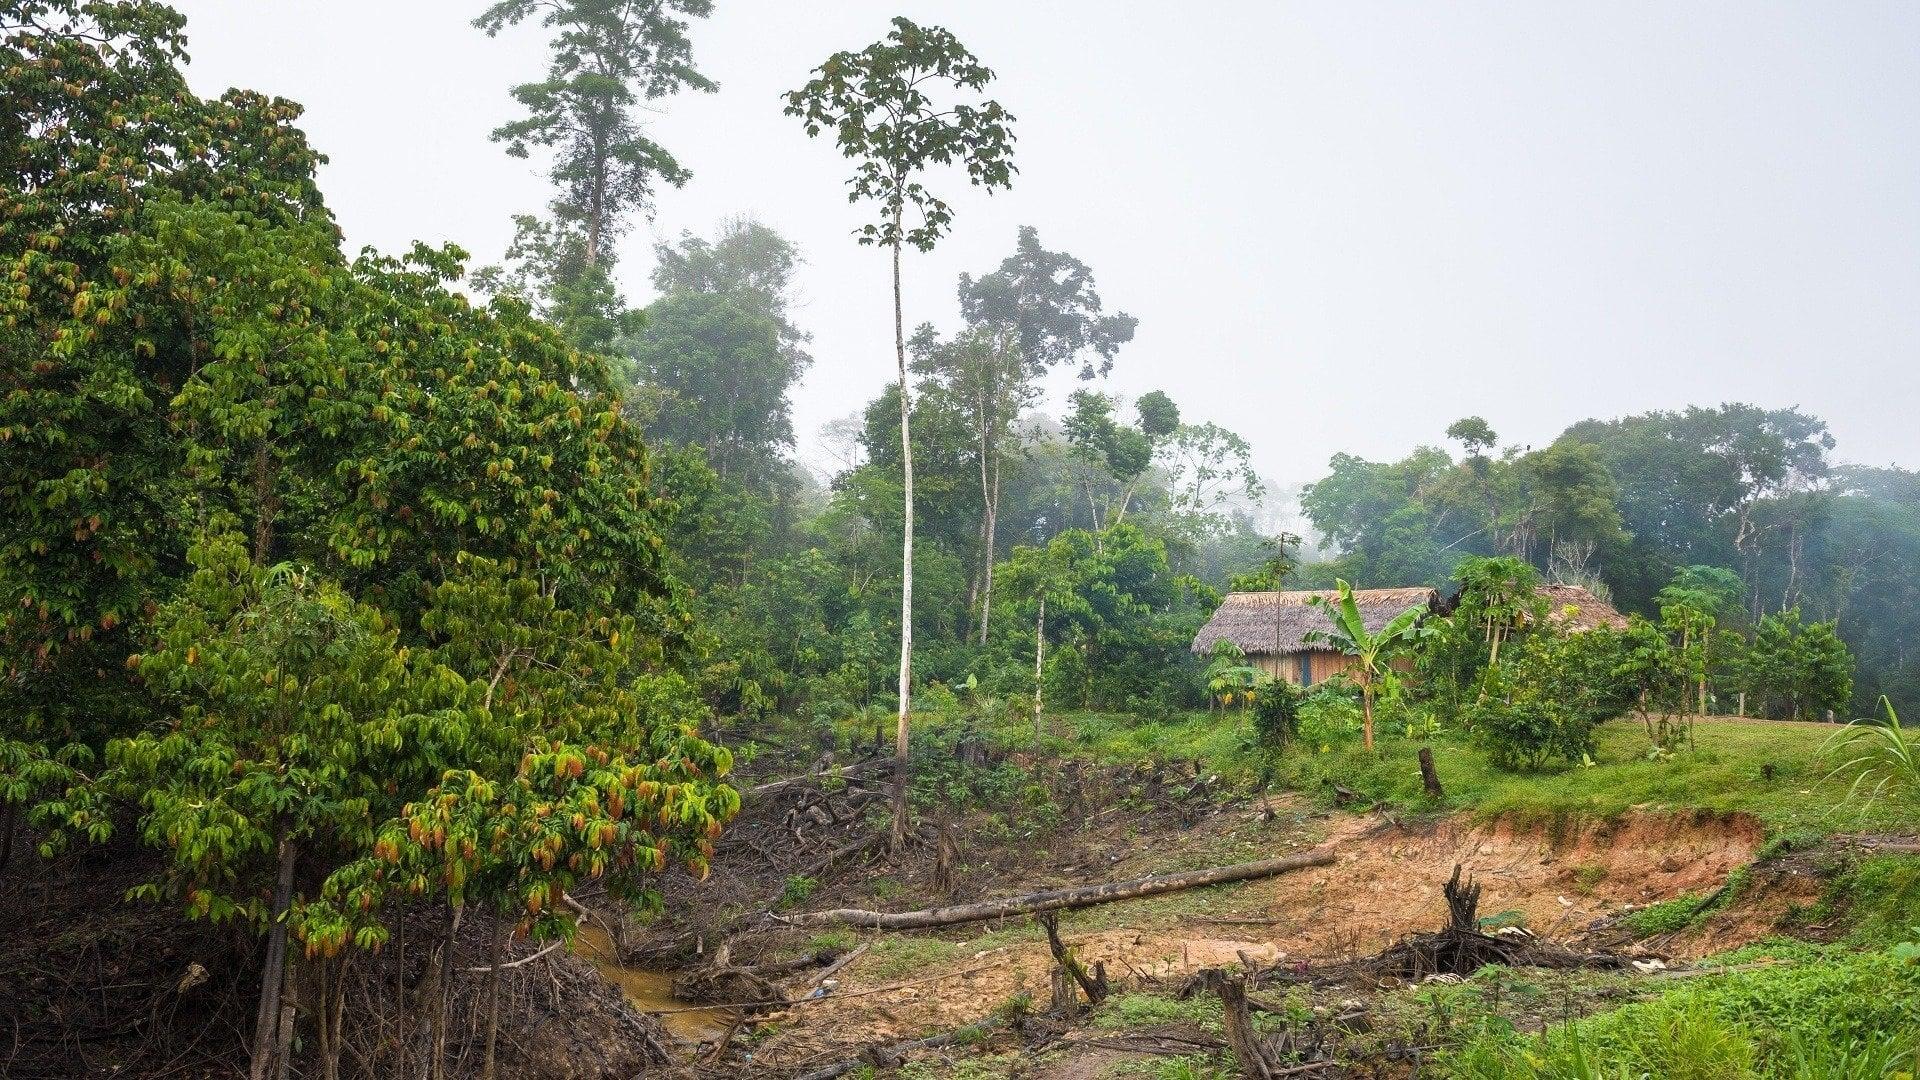
[[(1085, 963), (1104, 961), (1119, 980), (1177, 982), (1242, 955), (1261, 965), (1313, 965), (1428, 930), (1444, 919), (1440, 886), (1455, 865), (1484, 884), (1486, 917), (1572, 938), (1626, 905), (1718, 888), (1755, 859), (1763, 832), (1743, 817), (1667, 813), (1559, 830), (1467, 817), (1405, 824), (1371, 813), (1308, 813), (1292, 799), (1273, 799), (1210, 813), (1190, 828), (1092, 828), (1060, 840), (1048, 859), (1008, 867), (987, 892), (1060, 884), (1060, 867), (1104, 867), (1104, 878), (1123, 878), (1321, 844), (1336, 853), (1331, 867), (1094, 907), (1062, 922)], [(906, 896), (891, 903), (912, 905)], [(1740, 934), (1724, 930), (1697, 949), (1676, 944), (1668, 955), (1724, 949)], [(1749, 930), (1764, 932), (1757, 924)], [(1043, 1005), (1048, 995), (1052, 959), (1023, 920), (864, 940), (872, 949), (839, 972), (833, 994), (760, 1019), (770, 1034), (753, 1051), (758, 1068), (801, 1067), (849, 1047), (954, 1028), (1018, 995)]]

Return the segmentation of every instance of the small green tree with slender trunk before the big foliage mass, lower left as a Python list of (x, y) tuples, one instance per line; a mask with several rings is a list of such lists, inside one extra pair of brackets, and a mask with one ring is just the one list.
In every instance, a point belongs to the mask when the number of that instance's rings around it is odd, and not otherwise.
[[(136, 801), (142, 838), (171, 855), (167, 878), (136, 897), (175, 897), (194, 917), (244, 919), (267, 936), (259, 1078), (294, 1022), (280, 999), (301, 859), (365, 846), (396, 809), (386, 792), (432, 782), (474, 732), (461, 682), (409, 661), (397, 630), (338, 586), (290, 563), (263, 569), (230, 532), (196, 548), (194, 563), (138, 665), (179, 701), (179, 723), (111, 742), (94, 794)], [(96, 834), (111, 815), (86, 796), (52, 809), (56, 838)]]

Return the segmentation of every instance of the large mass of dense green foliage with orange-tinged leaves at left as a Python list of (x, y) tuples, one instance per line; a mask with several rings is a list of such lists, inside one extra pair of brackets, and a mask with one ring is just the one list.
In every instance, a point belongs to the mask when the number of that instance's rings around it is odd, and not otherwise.
[(265, 934), (255, 1068), (290, 936), (699, 871), (737, 796), (609, 361), (459, 250), (348, 261), (298, 108), (196, 98), (175, 13), (6, 21), (8, 821)]

